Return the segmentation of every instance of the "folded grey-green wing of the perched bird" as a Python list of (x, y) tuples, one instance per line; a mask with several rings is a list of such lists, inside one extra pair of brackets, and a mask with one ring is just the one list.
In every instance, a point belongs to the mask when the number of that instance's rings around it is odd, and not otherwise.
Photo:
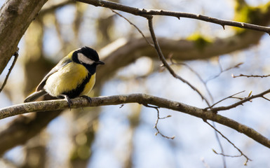
[(41, 83), (39, 83), (39, 85), (36, 87), (36, 92), (39, 90), (43, 90), (44, 85), (46, 84), (46, 81), (48, 79), (48, 77), (50, 77), (53, 73), (59, 71), (59, 69), (61, 69), (63, 66), (66, 66), (67, 64), (69, 64), (70, 62), (72, 62), (72, 59), (70, 59), (69, 57), (65, 57), (63, 58), (52, 70), (49, 71), (49, 73), (47, 73), (47, 75), (41, 80)]

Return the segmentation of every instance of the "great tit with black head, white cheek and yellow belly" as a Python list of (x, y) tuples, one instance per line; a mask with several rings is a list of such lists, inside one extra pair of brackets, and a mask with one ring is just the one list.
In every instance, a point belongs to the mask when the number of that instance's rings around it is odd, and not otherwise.
[(95, 85), (95, 71), (100, 61), (95, 50), (88, 47), (70, 52), (41, 80), (36, 92), (30, 94), (25, 102), (34, 102), (39, 97), (50, 94), (51, 97), (66, 99), (69, 107), (70, 99), (86, 97)]

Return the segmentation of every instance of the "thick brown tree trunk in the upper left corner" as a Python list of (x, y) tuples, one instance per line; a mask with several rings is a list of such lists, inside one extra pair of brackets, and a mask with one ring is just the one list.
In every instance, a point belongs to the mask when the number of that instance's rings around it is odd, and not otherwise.
[(8, 64), (27, 27), (48, 0), (6, 1), (0, 10), (0, 74)]

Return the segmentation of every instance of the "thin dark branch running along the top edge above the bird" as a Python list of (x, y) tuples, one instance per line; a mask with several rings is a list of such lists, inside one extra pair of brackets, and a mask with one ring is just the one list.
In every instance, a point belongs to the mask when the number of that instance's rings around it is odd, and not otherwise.
[(144, 9), (144, 8), (134, 8), (130, 6), (124, 6), (120, 3), (115, 3), (111, 1), (104, 1), (104, 0), (76, 0), (81, 1), (83, 3), (88, 3), (93, 6), (102, 6), (104, 8), (111, 8), (114, 10), (121, 10), (126, 13), (131, 13), (133, 15), (140, 15), (142, 17), (147, 17), (151, 15), (166, 15), (166, 16), (173, 16), (178, 19), (180, 18), (191, 18), (196, 20), (203, 20), (205, 22), (212, 22), (218, 25), (221, 25), (224, 29), (224, 26), (231, 26), (231, 27), (240, 27), (243, 29), (253, 29), (257, 31), (263, 31), (270, 34), (270, 27), (263, 27), (258, 25), (253, 25), (244, 22), (236, 22), (236, 21), (229, 21), (229, 20), (220, 20), (217, 18), (211, 18), (205, 15), (196, 15), (192, 13), (181, 13), (181, 12), (173, 12), (168, 10), (154, 10), (154, 9)]

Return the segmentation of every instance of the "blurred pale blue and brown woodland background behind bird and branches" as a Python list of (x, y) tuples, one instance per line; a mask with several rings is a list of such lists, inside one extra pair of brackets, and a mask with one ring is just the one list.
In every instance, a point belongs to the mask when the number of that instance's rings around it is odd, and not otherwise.
[[(270, 23), (270, 1), (266, 0), (115, 2), (264, 26)], [(4, 3), (0, 1), (1, 6)], [(147, 20), (119, 13), (149, 36)], [(237, 97), (269, 89), (269, 78), (231, 76), (269, 74), (269, 34), (233, 27), (223, 29), (209, 22), (165, 16), (154, 17), (154, 30), (164, 55), (181, 63), (173, 64), (173, 69), (198, 88), (211, 104), (243, 90), (245, 92)], [(181, 41), (183, 51), (176, 45), (166, 48), (166, 41)], [(234, 47), (217, 50), (220, 41), (233, 43)], [(106, 63), (97, 69), (92, 97), (142, 92), (200, 108), (207, 106), (194, 90), (160, 66), (156, 52), (137, 29), (112, 10), (74, 1), (50, 0), (20, 41), (18, 62), (0, 94), (0, 108), (22, 103), (62, 57), (84, 45), (95, 48)], [(6, 66), (1, 83), (11, 63)], [(241, 65), (236, 66), (238, 64)], [(228, 99), (217, 106), (236, 101), (238, 99)], [(254, 99), (220, 114), (270, 139), (269, 106), (270, 102), (265, 99)], [(63, 111), (37, 136), (4, 153), (0, 167), (224, 167), (223, 160), (227, 167), (245, 167), (243, 156), (222, 159), (221, 155), (213, 153), (212, 149), (221, 153), (220, 145), (214, 130), (200, 118), (166, 109), (160, 109), (160, 114), (172, 117), (159, 120), (158, 129), (175, 139), (155, 136), (156, 110), (139, 104)], [(15, 118), (18, 116), (0, 120), (0, 131), (8, 129)], [(252, 160), (247, 167), (270, 167), (269, 148), (228, 127), (216, 126)], [(220, 141), (224, 154), (240, 155), (222, 137)]]

